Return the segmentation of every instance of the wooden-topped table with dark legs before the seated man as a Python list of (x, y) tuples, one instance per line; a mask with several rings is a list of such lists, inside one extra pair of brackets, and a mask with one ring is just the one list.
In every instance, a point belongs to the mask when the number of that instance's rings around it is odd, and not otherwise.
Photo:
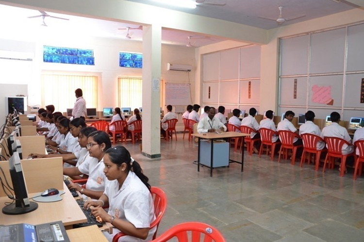
[[(210, 166), (210, 177), (212, 177), (212, 170), (213, 170), (213, 164), (214, 164), (214, 140), (216, 139), (222, 139), (222, 138), (236, 138), (241, 137), (243, 139), (244, 144), (244, 137), (250, 136), (250, 134), (243, 134), (238, 132), (221, 132), (221, 134), (216, 133), (204, 133), (204, 134), (193, 134), (193, 136), (199, 138), (199, 146), (201, 139), (210, 139), (211, 140), (211, 166)], [(230, 149), (230, 146), (229, 146)], [(229, 159), (229, 163), (239, 163), (241, 164), (241, 171), (243, 172), (244, 167), (244, 148), (242, 149), (242, 156), (241, 156), (241, 162), (234, 161)], [(229, 152), (230, 154), (230, 152)], [(199, 171), (199, 160), (200, 160), (200, 151), (198, 152), (198, 160), (197, 160), (197, 171)]]

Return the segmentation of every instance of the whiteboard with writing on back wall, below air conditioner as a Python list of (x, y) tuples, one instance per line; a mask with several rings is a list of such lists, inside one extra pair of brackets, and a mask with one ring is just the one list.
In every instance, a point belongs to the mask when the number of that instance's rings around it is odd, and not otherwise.
[(165, 83), (166, 105), (189, 105), (191, 103), (189, 83)]

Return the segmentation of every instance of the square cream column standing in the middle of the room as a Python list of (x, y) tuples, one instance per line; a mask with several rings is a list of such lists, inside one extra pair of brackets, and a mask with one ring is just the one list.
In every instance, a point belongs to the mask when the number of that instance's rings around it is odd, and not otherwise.
[(143, 27), (143, 150), (149, 158), (161, 157), (160, 96), (162, 27)]

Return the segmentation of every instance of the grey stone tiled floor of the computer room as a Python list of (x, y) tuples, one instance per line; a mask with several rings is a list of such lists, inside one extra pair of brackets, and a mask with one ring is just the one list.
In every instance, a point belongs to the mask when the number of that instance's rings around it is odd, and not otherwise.
[[(245, 152), (239, 164), (209, 169), (192, 161), (197, 147), (188, 139), (161, 139), (162, 158), (149, 160), (139, 143), (122, 143), (138, 161), (152, 186), (162, 188), (168, 208), (158, 235), (186, 221), (218, 228), (228, 242), (363, 242), (364, 176), (353, 171), (339, 177), (337, 169), (322, 173), (313, 165), (302, 168), (278, 158)], [(231, 158), (241, 159), (231, 149)]]

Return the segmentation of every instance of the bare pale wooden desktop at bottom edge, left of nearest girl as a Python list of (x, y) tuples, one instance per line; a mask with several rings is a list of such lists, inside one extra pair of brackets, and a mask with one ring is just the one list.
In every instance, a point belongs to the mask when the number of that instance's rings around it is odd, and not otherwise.
[(97, 242), (107, 242), (108, 240), (102, 234), (97, 225), (79, 227), (74, 229), (66, 230), (68, 238), (71, 242), (79, 241), (97, 241)]

